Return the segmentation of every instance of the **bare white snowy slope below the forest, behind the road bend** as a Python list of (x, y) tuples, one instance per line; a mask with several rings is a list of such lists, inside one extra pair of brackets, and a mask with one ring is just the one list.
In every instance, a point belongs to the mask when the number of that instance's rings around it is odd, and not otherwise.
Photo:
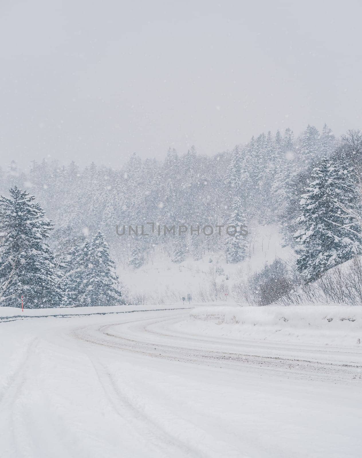
[[(247, 258), (227, 264), (224, 253), (207, 253), (200, 261), (192, 258), (176, 264), (165, 253), (156, 252), (153, 262), (139, 269), (119, 268), (118, 274), (133, 297), (139, 301), (164, 304), (180, 301), (191, 293), (197, 301), (231, 301), (232, 287), (241, 278), (262, 268), (275, 257), (291, 260), (294, 253), (283, 247), (277, 226), (250, 229)], [(210, 262), (212, 261), (212, 262)]]

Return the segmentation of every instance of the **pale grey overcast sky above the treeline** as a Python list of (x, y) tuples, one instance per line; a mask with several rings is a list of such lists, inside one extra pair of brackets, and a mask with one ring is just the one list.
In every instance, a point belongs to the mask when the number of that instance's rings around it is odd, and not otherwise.
[(1, 0), (1, 165), (361, 127), (361, 5)]

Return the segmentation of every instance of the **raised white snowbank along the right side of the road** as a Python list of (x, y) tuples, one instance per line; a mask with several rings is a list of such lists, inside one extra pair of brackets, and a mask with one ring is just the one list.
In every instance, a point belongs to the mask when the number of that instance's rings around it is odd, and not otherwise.
[(362, 307), (348, 305), (202, 306), (178, 326), (215, 337), (270, 343), (350, 346), (362, 352)]

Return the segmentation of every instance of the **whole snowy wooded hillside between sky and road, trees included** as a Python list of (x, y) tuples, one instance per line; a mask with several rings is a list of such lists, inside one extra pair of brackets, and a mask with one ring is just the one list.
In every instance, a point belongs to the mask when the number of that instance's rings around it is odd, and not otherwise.
[(313, 282), (343, 302), (326, 280), (362, 255), (361, 157), (361, 132), (336, 138), (324, 124), (212, 157), (134, 153), (120, 168), (13, 161), (0, 181), (0, 305), (287, 304)]

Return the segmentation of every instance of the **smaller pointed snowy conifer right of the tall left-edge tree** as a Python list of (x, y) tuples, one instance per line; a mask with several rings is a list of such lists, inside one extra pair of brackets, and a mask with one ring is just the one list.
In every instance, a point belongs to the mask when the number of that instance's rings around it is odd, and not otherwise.
[(115, 262), (110, 258), (104, 235), (99, 231), (84, 250), (86, 267), (82, 272), (80, 305), (124, 304), (122, 285), (115, 273)]

